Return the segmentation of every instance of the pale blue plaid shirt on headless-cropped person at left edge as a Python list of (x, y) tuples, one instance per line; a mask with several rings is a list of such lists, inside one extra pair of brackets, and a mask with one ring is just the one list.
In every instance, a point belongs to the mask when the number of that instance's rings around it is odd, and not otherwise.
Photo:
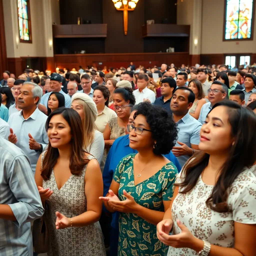
[(0, 255), (32, 256), (30, 222), (40, 218), (44, 208), (27, 156), (1, 137), (0, 170), (0, 208), (9, 205), (16, 218), (0, 218)]

